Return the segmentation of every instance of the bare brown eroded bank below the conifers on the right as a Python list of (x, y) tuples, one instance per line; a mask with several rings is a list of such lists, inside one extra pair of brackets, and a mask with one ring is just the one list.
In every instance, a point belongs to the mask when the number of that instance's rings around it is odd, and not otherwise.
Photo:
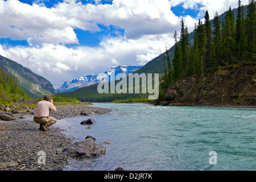
[(160, 105), (255, 106), (256, 64), (230, 65), (170, 85)]

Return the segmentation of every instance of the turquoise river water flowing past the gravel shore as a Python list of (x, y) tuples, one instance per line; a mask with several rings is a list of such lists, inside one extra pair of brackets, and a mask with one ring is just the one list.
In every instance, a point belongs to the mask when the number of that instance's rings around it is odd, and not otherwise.
[[(104, 115), (58, 120), (75, 140), (109, 141), (104, 155), (71, 159), (66, 170), (255, 170), (256, 109), (94, 104)], [(94, 118), (97, 122), (81, 125)]]

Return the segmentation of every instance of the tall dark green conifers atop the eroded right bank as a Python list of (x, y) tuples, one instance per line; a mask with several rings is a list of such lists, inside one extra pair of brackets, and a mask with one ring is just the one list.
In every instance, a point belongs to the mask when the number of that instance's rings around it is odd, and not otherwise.
[(194, 42), (191, 43), (187, 26), (181, 20), (179, 38), (177, 31), (174, 33), (175, 51), (172, 61), (166, 48), (168, 66), (162, 77), (163, 89), (180, 78), (206, 73), (222, 65), (256, 62), (255, 0), (249, 0), (247, 10), (238, 1), (236, 20), (231, 7), (222, 20), (216, 12), (213, 27), (206, 11), (204, 24), (199, 19), (194, 31)]

